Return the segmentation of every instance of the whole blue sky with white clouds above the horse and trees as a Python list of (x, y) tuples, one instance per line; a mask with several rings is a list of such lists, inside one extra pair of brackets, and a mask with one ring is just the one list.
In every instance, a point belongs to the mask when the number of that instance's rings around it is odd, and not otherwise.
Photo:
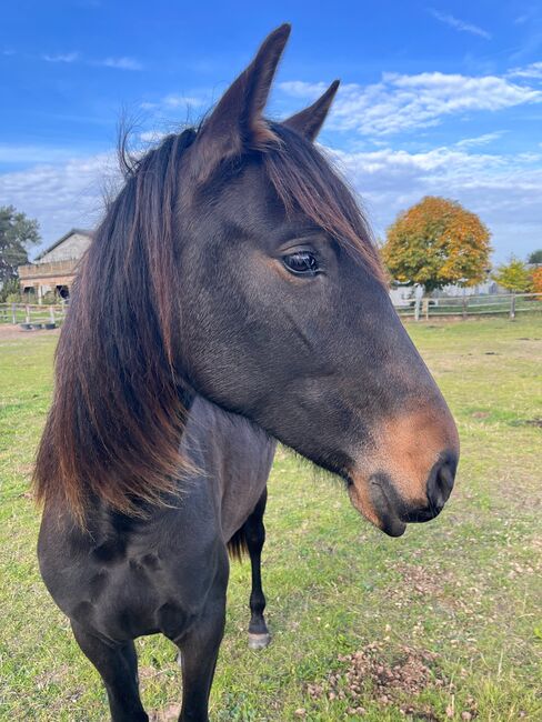
[(542, 3), (11, 2), (0, 26), (0, 204), (47, 245), (91, 228), (134, 143), (195, 121), (264, 36), (293, 26), (271, 117), (342, 87), (321, 143), (377, 234), (424, 194), (480, 214), (494, 260), (542, 247)]

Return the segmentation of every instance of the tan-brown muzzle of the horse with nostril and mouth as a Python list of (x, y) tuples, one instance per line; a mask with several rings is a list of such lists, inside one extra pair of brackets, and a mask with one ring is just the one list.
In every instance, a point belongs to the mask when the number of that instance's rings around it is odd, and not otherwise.
[[(351, 473), (352, 504), (387, 534), (400, 537), (406, 522), (428, 521), (440, 512), (458, 458), (458, 431), (444, 403), (389, 419), (373, 431), (371, 447)], [(436, 474), (446, 480), (446, 493), (436, 489)]]

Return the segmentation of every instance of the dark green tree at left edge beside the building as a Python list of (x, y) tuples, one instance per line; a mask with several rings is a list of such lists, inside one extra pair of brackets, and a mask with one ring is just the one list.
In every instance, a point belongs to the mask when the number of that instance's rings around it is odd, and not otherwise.
[(18, 277), (18, 267), (28, 263), (29, 247), (40, 240), (38, 221), (12, 205), (0, 207), (0, 285)]

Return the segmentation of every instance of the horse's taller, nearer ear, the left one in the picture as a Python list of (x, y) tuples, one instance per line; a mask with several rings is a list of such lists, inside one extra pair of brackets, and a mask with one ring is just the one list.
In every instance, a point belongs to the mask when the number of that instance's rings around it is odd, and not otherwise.
[(254, 60), (243, 70), (204, 121), (194, 144), (194, 174), (204, 179), (218, 162), (242, 152), (264, 148), (277, 138), (262, 111), (291, 27), (284, 23), (263, 41)]

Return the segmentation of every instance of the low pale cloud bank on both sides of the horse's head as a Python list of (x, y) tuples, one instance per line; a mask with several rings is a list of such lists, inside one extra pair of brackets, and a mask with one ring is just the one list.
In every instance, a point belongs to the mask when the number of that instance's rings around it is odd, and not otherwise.
[[(468, 146), (419, 153), (390, 148), (329, 152), (360, 193), (379, 234), (399, 211), (438, 194), (481, 215), (493, 232), (498, 260), (512, 251), (525, 255), (540, 245), (542, 149), (515, 156), (474, 152)], [(104, 180), (119, 182), (113, 153), (71, 159), (51, 154), (47, 164), (0, 174), (0, 198), (38, 218), (47, 245), (72, 227), (98, 222)]]

